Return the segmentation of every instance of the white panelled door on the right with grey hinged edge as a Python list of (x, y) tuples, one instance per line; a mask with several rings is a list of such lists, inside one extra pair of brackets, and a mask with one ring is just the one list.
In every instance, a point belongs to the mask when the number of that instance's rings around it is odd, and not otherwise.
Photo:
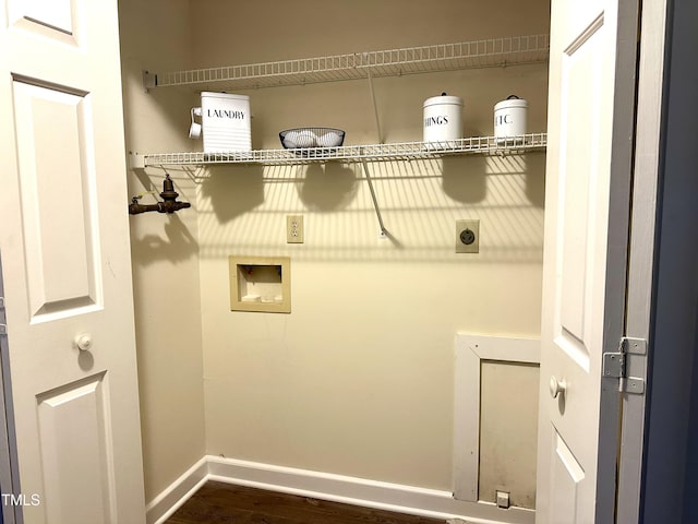
[[(636, 1), (553, 0), (537, 522), (614, 522)], [(556, 396), (554, 396), (556, 394)]]

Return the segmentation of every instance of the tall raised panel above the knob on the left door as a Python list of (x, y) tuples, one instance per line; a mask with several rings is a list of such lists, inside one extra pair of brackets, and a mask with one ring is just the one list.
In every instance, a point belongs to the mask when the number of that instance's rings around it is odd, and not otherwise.
[(13, 92), (31, 322), (100, 308), (89, 97), (24, 82)]

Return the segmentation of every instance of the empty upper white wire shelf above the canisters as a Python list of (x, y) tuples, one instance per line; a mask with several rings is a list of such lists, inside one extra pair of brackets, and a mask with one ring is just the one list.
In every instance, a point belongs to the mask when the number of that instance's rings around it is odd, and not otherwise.
[[(354, 52), (276, 62), (155, 73), (149, 86), (250, 90), (399, 76), (402, 74), (546, 62), (549, 35), (509, 36), (433, 46)], [(149, 74), (149, 73), (147, 73)]]

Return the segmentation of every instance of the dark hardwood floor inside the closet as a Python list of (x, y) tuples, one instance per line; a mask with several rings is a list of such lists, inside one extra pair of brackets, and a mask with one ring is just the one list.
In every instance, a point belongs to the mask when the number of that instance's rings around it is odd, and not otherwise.
[(443, 524), (444, 521), (208, 481), (165, 524)]

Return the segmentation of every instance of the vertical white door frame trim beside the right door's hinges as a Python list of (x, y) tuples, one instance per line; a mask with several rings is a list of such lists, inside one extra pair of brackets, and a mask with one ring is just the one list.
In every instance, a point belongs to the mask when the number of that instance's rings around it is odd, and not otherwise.
[[(625, 334), (650, 341), (657, 198), (661, 165), (660, 150), (662, 148), (666, 1), (645, 2), (641, 10), (641, 24), (635, 130), (637, 153), (630, 207)], [(648, 383), (648, 357), (649, 355), (631, 355), (626, 361), (628, 376), (642, 378), (646, 384)], [(640, 492), (647, 396), (624, 393), (622, 402), (616, 515), (617, 522), (640, 522), (642, 520)]]

